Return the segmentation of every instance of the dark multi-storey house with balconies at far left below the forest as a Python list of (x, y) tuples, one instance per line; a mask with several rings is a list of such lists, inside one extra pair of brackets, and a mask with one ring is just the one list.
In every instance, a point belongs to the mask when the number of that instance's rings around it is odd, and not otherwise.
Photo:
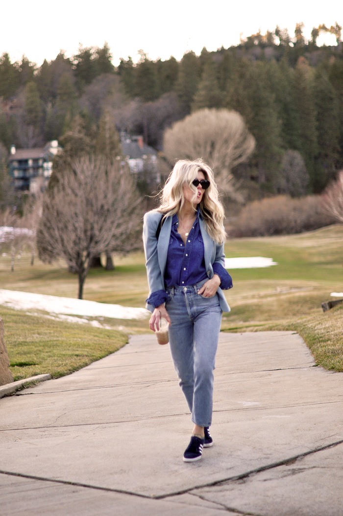
[(45, 190), (52, 173), (53, 159), (60, 150), (57, 140), (36, 149), (16, 149), (12, 145), (8, 162), (14, 188), (31, 193)]

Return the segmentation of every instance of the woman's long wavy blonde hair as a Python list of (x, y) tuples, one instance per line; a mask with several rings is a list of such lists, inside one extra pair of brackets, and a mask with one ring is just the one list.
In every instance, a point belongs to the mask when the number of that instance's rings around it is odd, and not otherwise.
[[(206, 230), (217, 244), (225, 241), (226, 233), (223, 227), (224, 208), (219, 200), (218, 189), (214, 181), (212, 169), (202, 161), (196, 159), (180, 159), (170, 172), (166, 184), (161, 192), (161, 204), (157, 211), (164, 214), (164, 218), (173, 216), (184, 204), (183, 187), (189, 186), (196, 199), (197, 188), (192, 184), (198, 172), (202, 172), (210, 186), (204, 190), (199, 204), (200, 213), (204, 219)], [(196, 208), (194, 208), (196, 209)]]

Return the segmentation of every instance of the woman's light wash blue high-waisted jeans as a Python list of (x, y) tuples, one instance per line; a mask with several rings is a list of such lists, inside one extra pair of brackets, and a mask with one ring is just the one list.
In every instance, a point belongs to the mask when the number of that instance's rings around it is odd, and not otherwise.
[(218, 295), (205, 298), (197, 294), (205, 281), (167, 288), (166, 302), (171, 358), (192, 421), (198, 426), (212, 422), (213, 369), (222, 321)]

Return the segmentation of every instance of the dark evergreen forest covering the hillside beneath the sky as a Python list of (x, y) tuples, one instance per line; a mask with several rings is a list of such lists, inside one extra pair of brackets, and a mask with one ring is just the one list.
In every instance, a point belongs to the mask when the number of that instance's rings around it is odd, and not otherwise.
[[(163, 157), (165, 128), (201, 108), (227, 108), (242, 115), (256, 140), (255, 151), (233, 169), (254, 185), (259, 197), (320, 193), (343, 169), (343, 44), (341, 27), (313, 29), (305, 41), (302, 24), (290, 38), (278, 27), (237, 46), (180, 61), (150, 60), (140, 51), (118, 67), (105, 43), (80, 46), (40, 67), (25, 56), (0, 57), (0, 154), (43, 146), (71, 130), (95, 144), (104, 117), (118, 132), (144, 136)], [(321, 30), (336, 34), (335, 46), (317, 46)], [(1, 157), (1, 156), (0, 156)], [(285, 177), (297, 169), (299, 188), (287, 191)], [(287, 179), (287, 178), (286, 178)]]

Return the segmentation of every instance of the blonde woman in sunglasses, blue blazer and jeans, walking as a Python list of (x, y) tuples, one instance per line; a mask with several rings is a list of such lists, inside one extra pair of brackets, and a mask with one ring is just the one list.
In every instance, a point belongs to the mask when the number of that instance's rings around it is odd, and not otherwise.
[(149, 283), (149, 325), (169, 322), (169, 345), (180, 386), (194, 423), (185, 462), (212, 446), (213, 369), (223, 289), (232, 287), (224, 269), (224, 210), (213, 172), (202, 160), (179, 160), (165, 184), (159, 208), (144, 216)]

